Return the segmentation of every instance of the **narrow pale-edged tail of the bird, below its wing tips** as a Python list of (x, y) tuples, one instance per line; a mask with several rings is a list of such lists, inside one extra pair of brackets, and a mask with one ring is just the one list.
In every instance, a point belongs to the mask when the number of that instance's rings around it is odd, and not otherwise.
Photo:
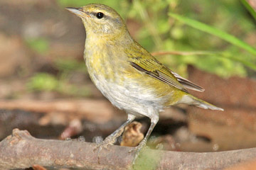
[[(185, 99), (186, 98), (186, 99)], [(191, 94), (186, 95), (184, 99), (187, 101), (186, 103), (189, 105), (197, 106), (199, 108), (204, 109), (211, 109), (216, 111), (224, 111), (223, 108), (218, 108), (217, 106), (214, 106), (206, 101), (203, 101), (199, 98), (196, 98), (195, 96), (192, 96)]]

